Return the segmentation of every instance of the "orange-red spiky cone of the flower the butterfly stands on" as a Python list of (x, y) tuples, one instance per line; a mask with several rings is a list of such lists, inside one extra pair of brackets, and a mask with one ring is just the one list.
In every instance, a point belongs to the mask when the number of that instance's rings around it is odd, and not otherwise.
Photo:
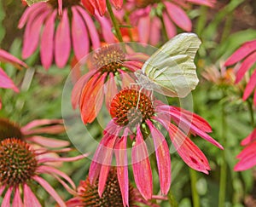
[(110, 114), (116, 124), (134, 127), (154, 115), (154, 106), (148, 95), (136, 89), (125, 89), (115, 95)]

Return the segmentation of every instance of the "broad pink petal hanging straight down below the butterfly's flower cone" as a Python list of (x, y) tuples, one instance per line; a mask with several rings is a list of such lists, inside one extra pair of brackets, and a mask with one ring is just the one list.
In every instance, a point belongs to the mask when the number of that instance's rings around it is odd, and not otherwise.
[(140, 126), (137, 126), (136, 142), (131, 148), (131, 163), (137, 189), (143, 198), (151, 199), (153, 192), (152, 171), (148, 158), (148, 149), (145, 141), (143, 141)]

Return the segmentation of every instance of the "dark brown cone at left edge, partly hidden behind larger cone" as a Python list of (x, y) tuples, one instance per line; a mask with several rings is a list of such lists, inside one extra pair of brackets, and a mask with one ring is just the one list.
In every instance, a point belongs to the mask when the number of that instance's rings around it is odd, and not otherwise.
[(11, 123), (6, 118), (0, 118), (0, 141), (15, 137), (22, 140), (23, 135), (17, 124)]

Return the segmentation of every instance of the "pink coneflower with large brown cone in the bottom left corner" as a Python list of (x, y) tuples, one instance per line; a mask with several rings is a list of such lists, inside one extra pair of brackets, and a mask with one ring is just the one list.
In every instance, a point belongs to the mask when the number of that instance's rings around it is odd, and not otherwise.
[[(55, 189), (45, 181), (41, 175), (55, 177), (69, 192), (75, 190), (75, 185), (68, 175), (57, 170), (49, 163), (74, 161), (84, 156), (73, 158), (46, 158), (50, 151), (35, 150), (25, 141), (15, 138), (0, 142), (0, 195), (3, 196), (2, 206), (41, 206), (35, 187), (41, 186), (48, 192), (60, 206), (66, 206), (63, 199)], [(61, 150), (59, 151), (61, 152)], [(67, 152), (63, 149), (63, 152)], [(68, 184), (67, 184), (67, 183)], [(33, 191), (32, 191), (33, 189)], [(13, 200), (12, 193), (14, 193)]]

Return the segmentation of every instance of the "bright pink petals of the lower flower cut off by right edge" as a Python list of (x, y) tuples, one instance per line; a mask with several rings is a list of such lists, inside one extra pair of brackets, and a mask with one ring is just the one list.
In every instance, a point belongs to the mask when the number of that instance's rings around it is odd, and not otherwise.
[(236, 171), (248, 170), (256, 165), (256, 129), (241, 141), (241, 145), (246, 147), (236, 157), (240, 159), (234, 167)]

